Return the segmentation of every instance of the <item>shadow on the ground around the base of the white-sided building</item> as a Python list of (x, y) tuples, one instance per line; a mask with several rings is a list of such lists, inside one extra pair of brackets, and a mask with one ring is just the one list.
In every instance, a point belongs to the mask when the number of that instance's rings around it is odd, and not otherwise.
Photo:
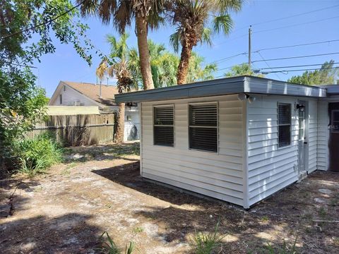
[[(220, 219), (219, 231), (227, 235), (220, 253), (270, 253), (267, 243), (275, 247), (275, 253), (282, 250), (284, 241), (291, 249), (297, 238), (297, 250), (303, 253), (335, 253), (338, 243), (339, 225), (323, 224), (321, 231), (314, 226), (313, 219), (321, 217), (323, 207), (314, 205), (318, 188), (323, 186), (326, 176), (317, 173), (303, 183), (292, 185), (258, 203), (246, 211), (227, 202), (206, 200), (172, 188), (144, 181), (138, 163), (93, 171), (115, 183), (133, 188), (154, 198), (170, 202), (169, 207), (145, 206), (135, 212), (157, 225), (163, 225), (158, 232), (167, 242), (187, 242), (196, 231), (210, 231)], [(338, 191), (339, 177), (328, 183), (327, 188)], [(312, 184), (311, 184), (312, 183)], [(333, 199), (338, 198), (333, 194)], [(331, 200), (328, 201), (331, 203)], [(338, 216), (338, 207), (330, 207), (328, 217)], [(338, 240), (339, 241), (339, 240)], [(286, 252), (288, 253), (288, 252)]]

